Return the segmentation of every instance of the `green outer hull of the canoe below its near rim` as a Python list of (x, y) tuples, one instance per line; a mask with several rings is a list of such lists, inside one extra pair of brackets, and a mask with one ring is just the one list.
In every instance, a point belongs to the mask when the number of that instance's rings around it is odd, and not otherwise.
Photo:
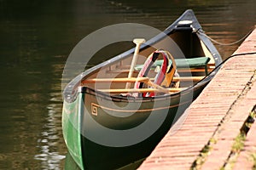
[[(130, 109), (129, 107), (125, 107), (123, 110), (109, 108), (111, 103), (121, 107), (127, 105), (129, 101), (106, 99), (91, 89), (85, 89), (85, 93), (79, 93), (78, 99), (72, 104), (64, 103), (63, 106), (63, 135), (68, 151), (81, 169), (116, 169), (141, 160), (154, 150), (160, 139), (165, 136), (173, 123), (177, 121), (204, 87), (191, 89), (177, 94), (177, 96), (172, 96), (172, 98), (144, 99), (138, 110), (132, 114), (130, 111), (133, 110), (132, 107), (136, 107), (137, 102), (130, 101)], [(97, 110), (96, 115), (93, 113), (95, 109)], [(109, 114), (108, 109), (111, 114)], [(117, 114), (128, 114), (128, 116), (115, 116)], [(108, 129), (126, 133), (127, 130), (146, 122), (151, 116), (154, 122), (160, 122), (160, 125), (156, 126), (145, 139), (133, 141), (138, 136), (143, 136), (144, 132), (130, 133), (134, 139), (123, 139), (123, 135), (116, 137), (112, 136), (112, 133), (108, 133)], [(154, 122), (153, 124), (149, 122), (148, 128), (154, 127)], [(101, 130), (94, 126), (94, 123), (104, 128)], [(148, 132), (148, 130), (146, 131)], [(91, 136), (91, 134), (95, 134), (95, 136)], [(116, 143), (106, 138), (115, 138)], [(113, 145), (109, 144), (108, 140), (113, 142)], [(124, 140), (126, 143), (127, 140), (131, 140), (131, 143), (129, 144), (128, 141), (126, 144)]]

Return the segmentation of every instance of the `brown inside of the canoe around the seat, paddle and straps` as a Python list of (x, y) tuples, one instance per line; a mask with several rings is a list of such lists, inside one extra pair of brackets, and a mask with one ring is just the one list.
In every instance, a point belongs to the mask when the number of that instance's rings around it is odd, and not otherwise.
[[(210, 72), (215, 68), (215, 61), (212, 54), (191, 27), (179, 28), (176, 31), (172, 31), (168, 35), (168, 37), (162, 38), (160, 41), (155, 42), (151, 46), (146, 46), (146, 48), (142, 48), (138, 54), (136, 64), (143, 65), (147, 57), (152, 54), (156, 49), (164, 49), (168, 51), (175, 59), (194, 59), (200, 57), (207, 57), (210, 59), (207, 64), (207, 72)], [(118, 62), (112, 63), (111, 65), (102, 67), (94, 74), (91, 74), (89, 77), (84, 77), (84, 80), (81, 81), (80, 86), (86, 86), (88, 88), (93, 88), (96, 90), (106, 88), (125, 89), (125, 85), (129, 81), (127, 77), (130, 71), (132, 58), (133, 54), (130, 54), (125, 59), (121, 59)], [(193, 86), (196, 82), (199, 82), (203, 77), (207, 76), (205, 71), (206, 68), (204, 67), (190, 69), (189, 66), (187, 66), (184, 68), (177, 68), (177, 72), (180, 78), (175, 77), (173, 81), (180, 82), (179, 88)], [(137, 77), (138, 72), (139, 71), (137, 70), (133, 71), (132, 77)], [(157, 71), (155, 71), (154, 69), (149, 71), (148, 77), (152, 82), (154, 82), (154, 77), (156, 74)], [(119, 78), (119, 81), (101, 81), (102, 79), (109, 78)], [(121, 81), (120, 78), (124, 78), (123, 81)], [(99, 81), (88, 81), (92, 79)], [(131, 88), (134, 87), (134, 82), (135, 81), (130, 82)], [(108, 93), (112, 95), (113, 91), (114, 90)], [(174, 93), (177, 91), (179, 90), (174, 90)]]

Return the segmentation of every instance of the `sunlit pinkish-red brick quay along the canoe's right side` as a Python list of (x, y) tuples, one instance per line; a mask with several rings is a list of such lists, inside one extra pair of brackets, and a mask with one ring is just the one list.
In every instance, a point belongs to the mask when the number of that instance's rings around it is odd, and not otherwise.
[(256, 29), (139, 170), (256, 166)]

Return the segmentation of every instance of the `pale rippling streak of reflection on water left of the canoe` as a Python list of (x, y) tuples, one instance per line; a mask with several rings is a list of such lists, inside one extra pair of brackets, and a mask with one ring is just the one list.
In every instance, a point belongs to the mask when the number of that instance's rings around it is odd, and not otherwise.
[(66, 146), (62, 138), (61, 131), (61, 108), (62, 96), (61, 89), (61, 71), (63, 64), (58, 63), (58, 59), (63, 56), (55, 56), (51, 65), (51, 83), (48, 96), (49, 104), (46, 106), (47, 114), (42, 122), (42, 130), (38, 135), (37, 148), (38, 154), (34, 156), (35, 160), (40, 161), (41, 169), (62, 169), (66, 155)]

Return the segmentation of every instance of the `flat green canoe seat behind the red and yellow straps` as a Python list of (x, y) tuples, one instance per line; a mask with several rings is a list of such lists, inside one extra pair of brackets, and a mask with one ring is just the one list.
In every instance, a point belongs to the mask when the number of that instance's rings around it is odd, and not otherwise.
[[(206, 72), (206, 75), (208, 74), (208, 62), (210, 61), (209, 57), (196, 57), (192, 59), (175, 59), (177, 69), (195, 69), (195, 68), (203, 68)], [(151, 67), (151, 69), (155, 69), (155, 67), (162, 65), (164, 62), (163, 59), (156, 60), (154, 62), (154, 65)], [(172, 60), (169, 60), (170, 65), (172, 64)], [(142, 70), (143, 65), (137, 65), (135, 67), (136, 71)]]

